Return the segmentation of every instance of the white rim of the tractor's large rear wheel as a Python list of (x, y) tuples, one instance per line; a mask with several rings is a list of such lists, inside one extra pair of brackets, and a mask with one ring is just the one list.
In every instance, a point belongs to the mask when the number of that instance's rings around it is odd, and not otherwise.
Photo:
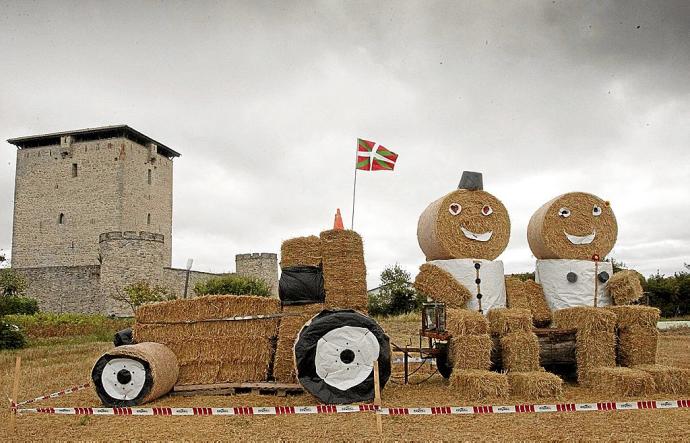
[[(326, 384), (346, 391), (367, 379), (379, 352), (379, 342), (370, 330), (356, 326), (336, 328), (316, 343), (316, 373)], [(343, 355), (352, 361), (343, 361)]]

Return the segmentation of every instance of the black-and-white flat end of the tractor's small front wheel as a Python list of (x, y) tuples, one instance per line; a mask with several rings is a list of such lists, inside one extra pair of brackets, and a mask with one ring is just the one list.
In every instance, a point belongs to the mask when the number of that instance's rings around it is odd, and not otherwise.
[[(128, 362), (129, 369), (126, 368)], [(138, 406), (153, 386), (148, 362), (121, 355), (105, 354), (99, 358), (91, 371), (91, 380), (98, 397), (105, 406), (110, 407)]]

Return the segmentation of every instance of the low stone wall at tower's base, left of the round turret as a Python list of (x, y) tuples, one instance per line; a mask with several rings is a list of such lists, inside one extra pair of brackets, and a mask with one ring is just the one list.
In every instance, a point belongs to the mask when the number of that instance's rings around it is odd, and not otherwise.
[(26, 295), (38, 300), (46, 312), (100, 314), (104, 300), (100, 291), (100, 266), (52, 266), (23, 268)]

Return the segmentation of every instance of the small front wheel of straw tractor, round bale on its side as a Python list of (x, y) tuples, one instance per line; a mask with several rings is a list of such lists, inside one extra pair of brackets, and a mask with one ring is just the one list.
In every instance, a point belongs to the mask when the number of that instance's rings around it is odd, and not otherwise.
[(96, 393), (106, 406), (137, 406), (167, 394), (177, 382), (175, 354), (160, 343), (118, 346), (91, 370)]

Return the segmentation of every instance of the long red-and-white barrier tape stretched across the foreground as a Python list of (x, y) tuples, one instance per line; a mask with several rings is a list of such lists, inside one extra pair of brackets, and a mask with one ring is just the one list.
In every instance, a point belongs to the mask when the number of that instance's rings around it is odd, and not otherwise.
[(375, 405), (245, 406), (233, 408), (19, 408), (20, 414), (56, 415), (300, 415), (376, 412), (380, 415), (473, 415), (521, 414), (540, 412), (623, 411), (634, 409), (690, 408), (690, 400), (646, 400), (632, 402), (520, 404), (511, 406), (434, 406), (428, 408), (384, 408)]

